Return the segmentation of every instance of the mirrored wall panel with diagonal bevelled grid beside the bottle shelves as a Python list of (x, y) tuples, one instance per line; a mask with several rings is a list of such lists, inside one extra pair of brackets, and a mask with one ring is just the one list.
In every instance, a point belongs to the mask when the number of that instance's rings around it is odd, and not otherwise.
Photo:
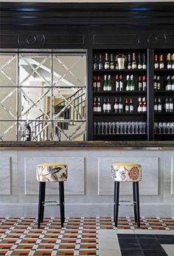
[(86, 140), (86, 53), (0, 54), (0, 140)]

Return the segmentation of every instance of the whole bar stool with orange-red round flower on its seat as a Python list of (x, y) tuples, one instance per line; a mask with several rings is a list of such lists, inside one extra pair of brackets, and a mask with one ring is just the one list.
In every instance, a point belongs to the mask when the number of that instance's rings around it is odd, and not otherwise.
[(114, 181), (114, 222), (117, 227), (120, 203), (130, 201), (119, 201), (119, 182), (133, 183), (133, 209), (135, 222), (140, 227), (139, 211), (139, 181), (142, 181), (142, 166), (134, 163), (114, 163), (111, 164), (111, 177)]

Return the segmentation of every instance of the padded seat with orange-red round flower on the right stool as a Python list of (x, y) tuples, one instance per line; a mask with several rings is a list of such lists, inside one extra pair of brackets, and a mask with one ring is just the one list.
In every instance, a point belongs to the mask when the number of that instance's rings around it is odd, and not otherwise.
[(111, 164), (113, 181), (142, 181), (142, 166), (135, 163)]

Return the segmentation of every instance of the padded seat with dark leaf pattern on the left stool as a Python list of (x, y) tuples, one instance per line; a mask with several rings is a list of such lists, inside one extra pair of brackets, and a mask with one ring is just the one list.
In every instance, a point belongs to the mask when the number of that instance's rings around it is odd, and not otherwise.
[(36, 178), (40, 182), (67, 181), (68, 166), (60, 163), (38, 164)]

